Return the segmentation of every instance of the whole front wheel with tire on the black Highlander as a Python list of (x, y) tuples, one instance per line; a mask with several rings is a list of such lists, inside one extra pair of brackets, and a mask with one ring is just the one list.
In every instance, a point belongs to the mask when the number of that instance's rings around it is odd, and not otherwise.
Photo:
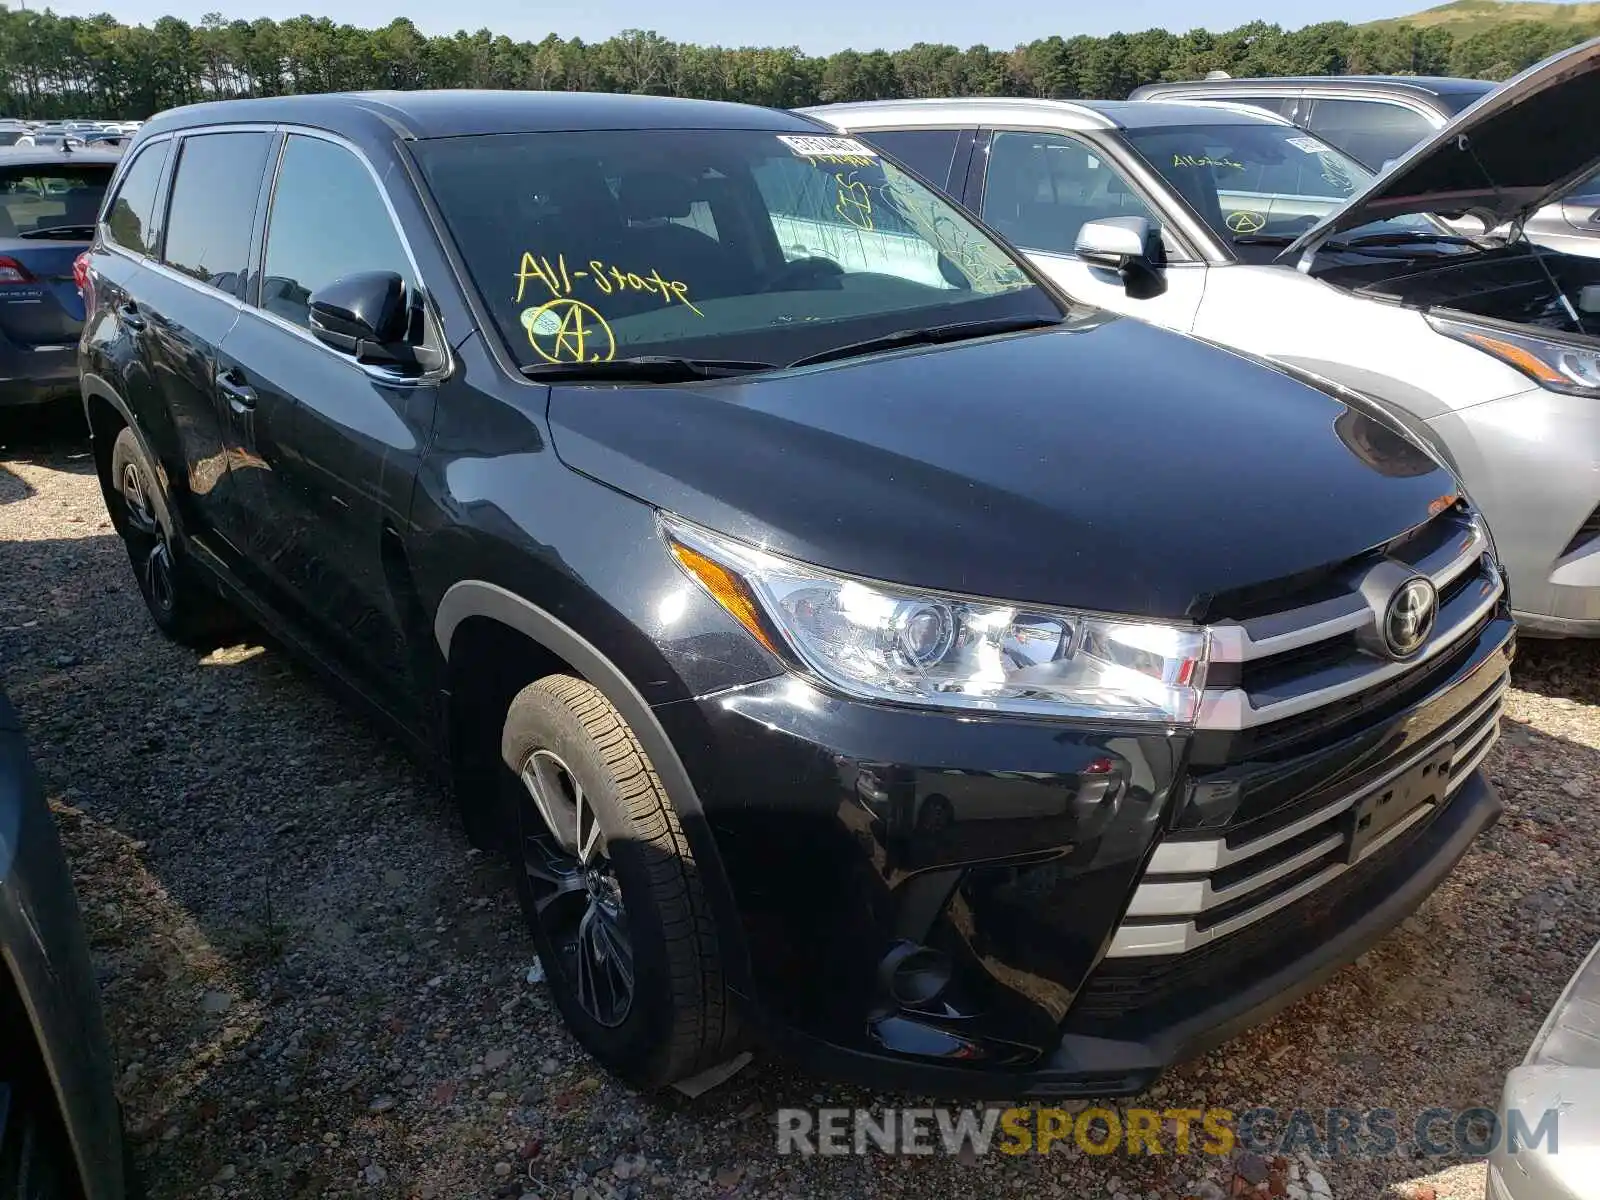
[(730, 1058), (710, 906), (622, 715), (592, 683), (546, 677), (512, 701), (501, 757), (518, 899), (578, 1042), (642, 1088)]

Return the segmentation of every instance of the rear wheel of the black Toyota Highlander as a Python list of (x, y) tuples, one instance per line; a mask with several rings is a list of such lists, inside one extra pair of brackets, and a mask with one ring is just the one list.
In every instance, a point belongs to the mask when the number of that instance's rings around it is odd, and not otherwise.
[(150, 618), (173, 642), (200, 645), (234, 624), (214, 589), (184, 558), (166, 498), (131, 429), (117, 434), (110, 483), (122, 507), (118, 528)]

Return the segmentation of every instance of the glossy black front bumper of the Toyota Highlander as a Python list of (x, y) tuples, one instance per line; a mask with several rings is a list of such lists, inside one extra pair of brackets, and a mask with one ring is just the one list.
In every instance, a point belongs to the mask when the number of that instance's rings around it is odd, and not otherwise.
[[(1299, 771), (1282, 813), (1435, 754), (1429, 739), (1494, 702), (1509, 638), (1501, 613), (1360, 728), (1251, 752), (1278, 779)], [(1190, 765), (1214, 746), (898, 710), (795, 678), (658, 714), (728, 874), (757, 1024), (808, 1067), (922, 1094), (1138, 1093), (1365, 952), (1501, 811), (1464, 754), (1448, 800), (1381, 853), (1202, 949), (1128, 957), (1155, 850), (1206, 832), (1179, 826), (1203, 811), (1197, 781), (1218, 786)], [(1237, 794), (1269, 790), (1246, 778)]]

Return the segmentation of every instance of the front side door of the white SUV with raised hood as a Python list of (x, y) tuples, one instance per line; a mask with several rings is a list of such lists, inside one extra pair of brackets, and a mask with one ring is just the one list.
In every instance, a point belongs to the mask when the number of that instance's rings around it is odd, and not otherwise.
[[(1098, 146), (1069, 133), (994, 130), (974, 154), (986, 160), (968, 208), (998, 230), (1067, 294), (1155, 325), (1189, 330), (1205, 294), (1206, 266), (1163, 219), (1150, 195)], [(1162, 229), (1166, 290), (1133, 299), (1115, 270), (1083, 262), (1074, 246), (1090, 221), (1142, 216)]]

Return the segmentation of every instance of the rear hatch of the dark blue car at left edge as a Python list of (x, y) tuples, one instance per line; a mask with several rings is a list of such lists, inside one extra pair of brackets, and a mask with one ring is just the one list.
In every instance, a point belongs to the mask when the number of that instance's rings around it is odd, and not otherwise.
[(29, 355), (70, 358), (83, 330), (72, 261), (94, 237), (114, 163), (0, 165), (0, 338), (26, 370)]

